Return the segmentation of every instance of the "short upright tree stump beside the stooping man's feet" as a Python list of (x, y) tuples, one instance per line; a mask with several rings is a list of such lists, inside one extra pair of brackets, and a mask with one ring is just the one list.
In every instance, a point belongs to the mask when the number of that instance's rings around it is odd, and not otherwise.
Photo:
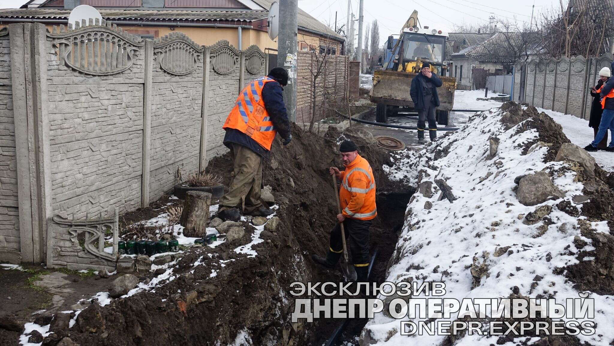
[(211, 194), (202, 191), (188, 191), (185, 194), (184, 209), (181, 212), (181, 226), (185, 237), (202, 238), (207, 234)]

